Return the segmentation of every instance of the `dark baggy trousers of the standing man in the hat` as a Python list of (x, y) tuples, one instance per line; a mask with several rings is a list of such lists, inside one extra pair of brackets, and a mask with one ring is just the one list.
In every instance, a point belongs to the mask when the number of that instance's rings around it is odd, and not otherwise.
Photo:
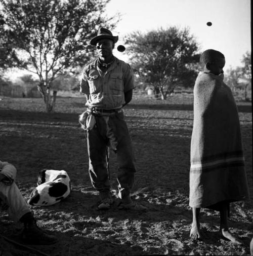
[(95, 116), (96, 125), (87, 131), (89, 154), (89, 174), (93, 187), (99, 192), (110, 191), (109, 173), (107, 169), (106, 148), (112, 138), (108, 137), (108, 129), (112, 131), (116, 143), (117, 181), (119, 198), (129, 197), (134, 184), (136, 172), (135, 157), (131, 137), (126, 126), (123, 112), (109, 116), (106, 122), (103, 116)]

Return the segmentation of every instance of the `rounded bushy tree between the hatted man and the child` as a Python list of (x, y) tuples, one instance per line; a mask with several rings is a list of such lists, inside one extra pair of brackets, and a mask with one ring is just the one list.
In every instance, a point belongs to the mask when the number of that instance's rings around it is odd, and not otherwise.
[(161, 99), (178, 85), (194, 85), (199, 54), (188, 28), (136, 31), (125, 36), (125, 44), (134, 70), (155, 88), (155, 93), (161, 94)]

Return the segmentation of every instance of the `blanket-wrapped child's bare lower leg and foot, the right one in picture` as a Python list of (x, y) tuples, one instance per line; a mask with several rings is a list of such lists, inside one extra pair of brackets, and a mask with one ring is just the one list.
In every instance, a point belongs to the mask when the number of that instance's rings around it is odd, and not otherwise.
[(220, 232), (221, 234), (230, 240), (233, 243), (242, 244), (242, 242), (234, 237), (228, 230), (228, 205), (226, 203), (221, 204), (220, 208), (220, 217), (221, 217), (221, 224), (220, 224)]

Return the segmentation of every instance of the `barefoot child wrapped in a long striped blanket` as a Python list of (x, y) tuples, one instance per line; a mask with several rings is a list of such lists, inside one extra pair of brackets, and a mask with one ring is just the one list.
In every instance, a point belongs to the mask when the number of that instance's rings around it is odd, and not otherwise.
[(224, 55), (209, 49), (200, 56), (203, 68), (194, 85), (189, 206), (190, 237), (199, 239), (200, 208), (220, 212), (221, 236), (241, 244), (228, 230), (231, 202), (249, 199), (238, 109), (223, 82)]

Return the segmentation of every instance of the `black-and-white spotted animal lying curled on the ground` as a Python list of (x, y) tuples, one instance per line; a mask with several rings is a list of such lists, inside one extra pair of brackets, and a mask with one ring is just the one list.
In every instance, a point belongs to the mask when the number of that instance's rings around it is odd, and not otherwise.
[(70, 178), (64, 170), (41, 170), (37, 185), (28, 199), (30, 205), (53, 205), (66, 198), (71, 190)]

